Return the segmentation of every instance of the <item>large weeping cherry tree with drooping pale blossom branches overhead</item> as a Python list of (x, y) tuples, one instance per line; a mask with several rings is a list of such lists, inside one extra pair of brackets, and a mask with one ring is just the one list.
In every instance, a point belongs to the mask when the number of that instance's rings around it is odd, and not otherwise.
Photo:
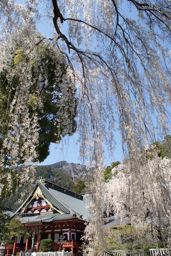
[[(43, 7), (44, 14), (41, 14), (40, 7)], [(37, 24), (42, 19), (48, 20), (54, 28), (50, 39), (37, 32)], [(28, 163), (36, 159), (41, 115), (34, 109), (29, 112), (29, 102), (32, 101), (34, 108), (42, 111), (41, 88), (48, 86), (48, 74), (46, 62), (43, 64), (35, 52), (46, 43), (49, 52), (53, 56), (57, 53), (63, 58), (62, 63), (65, 63), (63, 74), (61, 62), (59, 59), (57, 62), (54, 60), (54, 94), (60, 98), (57, 112), (62, 111), (55, 125), (57, 129), (62, 127), (59, 129), (66, 130), (61, 132), (62, 136), (74, 132), (72, 117), (75, 115), (74, 94), (77, 88), (80, 156), (88, 166), (88, 175), (93, 177), (93, 196), (89, 205), (91, 219), (85, 230), (85, 254), (102, 255), (105, 248), (103, 214), (104, 196), (108, 192), (104, 189), (104, 145), (108, 146), (111, 154), (114, 152), (114, 134), (118, 128), (126, 162), (121, 179), (125, 181), (127, 189), (128, 201), (125, 205), (128, 207), (130, 204), (131, 209), (131, 212), (127, 211), (131, 219), (140, 219), (141, 225), (145, 221), (147, 209), (152, 211), (156, 218), (155, 225), (164, 227), (163, 230), (160, 228), (160, 232), (167, 240), (168, 230), (165, 227), (169, 225), (170, 216), (169, 170), (165, 168), (165, 163), (162, 167), (161, 159), (157, 157), (153, 158), (154, 162), (147, 161), (144, 152), (150, 144), (162, 140), (169, 133), (170, 19), (168, 0), (46, 0), (42, 3), (27, 0), (24, 5), (13, 0), (0, 1), (0, 69), (2, 73), (8, 70), (6, 79), (11, 87), (6, 93), (9, 99), (13, 98), (11, 102), (7, 100), (5, 106), (7, 135), (1, 135), (4, 138), (1, 168), (4, 169), (7, 158), (11, 171), (20, 158), (26, 166), (25, 176), (28, 177)], [(18, 51), (23, 51), (27, 57), (21, 57), (17, 66), (13, 67), (14, 55)], [(33, 59), (40, 63), (36, 78), (32, 75), (32, 68), (37, 67), (32, 64)], [(19, 81), (15, 82), (13, 91), (12, 81), (16, 75)], [(29, 98), (32, 87), (35, 91)], [(55, 136), (61, 137), (61, 133), (55, 132)], [(34, 167), (32, 165), (29, 168)], [(10, 171), (3, 178), (8, 181), (8, 189), (11, 184)], [(160, 181), (156, 186), (151, 178), (153, 175), (157, 175), (156, 179)], [(147, 188), (151, 189), (149, 197)], [(137, 190), (140, 191), (138, 196), (135, 193)], [(109, 193), (110, 198), (113, 193)], [(165, 202), (161, 211), (158, 209), (160, 194), (162, 203)], [(146, 197), (148, 202), (153, 198), (153, 202), (147, 205)], [(116, 202), (111, 200), (111, 203), (116, 210)], [(144, 206), (137, 215), (139, 205)], [(167, 213), (168, 217), (159, 218), (159, 212), (162, 212), (161, 216)]]

